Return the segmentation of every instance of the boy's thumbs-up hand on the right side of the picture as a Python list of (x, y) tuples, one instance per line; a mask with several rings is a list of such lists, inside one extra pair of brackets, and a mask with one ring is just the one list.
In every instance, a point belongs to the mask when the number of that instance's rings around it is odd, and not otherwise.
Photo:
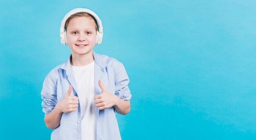
[(115, 94), (111, 94), (108, 89), (101, 84), (101, 80), (99, 80), (99, 87), (102, 93), (94, 96), (94, 103), (99, 110), (110, 108), (119, 103), (119, 97)]

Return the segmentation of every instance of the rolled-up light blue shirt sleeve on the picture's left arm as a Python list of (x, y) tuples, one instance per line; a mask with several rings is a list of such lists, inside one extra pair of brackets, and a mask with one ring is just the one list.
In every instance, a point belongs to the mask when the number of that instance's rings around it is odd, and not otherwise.
[(56, 84), (50, 74), (48, 74), (43, 82), (43, 89), (41, 91), (42, 107), (45, 115), (52, 112), (57, 103), (56, 91)]

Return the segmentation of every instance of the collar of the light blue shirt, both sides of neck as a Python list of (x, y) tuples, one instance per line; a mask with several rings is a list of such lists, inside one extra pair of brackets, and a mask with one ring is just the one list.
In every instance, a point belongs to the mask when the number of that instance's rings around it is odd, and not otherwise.
[[(98, 55), (97, 53), (95, 53), (94, 51), (92, 51), (92, 55), (94, 57), (94, 62), (99, 65), (101, 68), (105, 68), (107, 63), (107, 59), (108, 57), (106, 55)], [(61, 65), (61, 69), (63, 70), (70, 70), (71, 68), (71, 64), (70, 64), (70, 58), (71, 58), (71, 55), (70, 57), (67, 59), (67, 61), (65, 61), (62, 65)]]

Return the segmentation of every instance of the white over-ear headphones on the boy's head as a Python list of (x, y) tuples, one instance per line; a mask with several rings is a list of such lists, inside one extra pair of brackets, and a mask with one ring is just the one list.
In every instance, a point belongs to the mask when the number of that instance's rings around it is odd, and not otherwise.
[(92, 15), (97, 20), (99, 29), (96, 33), (95, 45), (101, 44), (102, 36), (103, 36), (103, 27), (101, 24), (101, 20), (99, 19), (98, 15), (96, 15), (96, 13), (94, 13), (93, 11), (91, 11), (89, 9), (85, 9), (85, 8), (73, 9), (65, 15), (65, 17), (61, 21), (61, 28), (60, 28), (61, 44), (67, 45), (67, 32), (64, 30), (65, 23), (66, 23), (67, 19), (74, 13), (79, 13), (79, 12), (88, 13), (88, 14)]

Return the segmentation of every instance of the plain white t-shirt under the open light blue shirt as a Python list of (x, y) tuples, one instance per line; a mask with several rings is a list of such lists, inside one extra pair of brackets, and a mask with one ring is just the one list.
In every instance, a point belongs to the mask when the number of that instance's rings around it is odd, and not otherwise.
[(71, 66), (71, 69), (78, 88), (82, 140), (95, 140), (94, 61), (85, 66)]

